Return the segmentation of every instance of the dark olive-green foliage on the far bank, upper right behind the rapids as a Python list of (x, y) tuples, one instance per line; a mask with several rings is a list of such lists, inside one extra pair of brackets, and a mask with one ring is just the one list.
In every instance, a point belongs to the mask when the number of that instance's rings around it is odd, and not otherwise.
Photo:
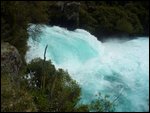
[(89, 1), (81, 4), (80, 27), (98, 37), (149, 35), (148, 23), (148, 1)]

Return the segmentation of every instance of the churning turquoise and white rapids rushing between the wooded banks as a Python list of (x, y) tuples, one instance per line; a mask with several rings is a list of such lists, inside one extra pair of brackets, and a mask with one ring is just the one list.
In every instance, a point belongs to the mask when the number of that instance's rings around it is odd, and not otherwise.
[[(30, 29), (34, 29), (34, 25)], [(100, 42), (83, 29), (69, 31), (43, 26), (38, 40), (29, 31), (26, 61), (44, 57), (67, 70), (81, 87), (81, 101), (89, 103), (100, 92), (114, 100), (116, 111), (149, 111), (149, 38)]]

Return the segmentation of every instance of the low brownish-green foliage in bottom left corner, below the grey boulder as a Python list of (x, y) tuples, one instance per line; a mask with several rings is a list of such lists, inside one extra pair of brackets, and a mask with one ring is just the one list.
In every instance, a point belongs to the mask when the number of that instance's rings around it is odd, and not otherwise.
[(24, 81), (12, 74), (1, 73), (1, 112), (37, 111)]

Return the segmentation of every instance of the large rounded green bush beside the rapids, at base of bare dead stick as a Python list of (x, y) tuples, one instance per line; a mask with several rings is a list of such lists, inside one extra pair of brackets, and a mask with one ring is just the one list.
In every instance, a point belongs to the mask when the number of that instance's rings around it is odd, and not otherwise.
[[(56, 70), (50, 61), (34, 59), (28, 65), (32, 90), (38, 111), (74, 111), (80, 98), (80, 87), (62, 69)], [(44, 83), (44, 85), (43, 85)]]

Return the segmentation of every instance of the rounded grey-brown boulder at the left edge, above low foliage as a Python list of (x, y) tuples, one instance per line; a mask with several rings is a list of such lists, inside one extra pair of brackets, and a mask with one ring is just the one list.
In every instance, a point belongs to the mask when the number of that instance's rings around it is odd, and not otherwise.
[(1, 43), (1, 72), (18, 75), (22, 60), (18, 50), (9, 43)]

